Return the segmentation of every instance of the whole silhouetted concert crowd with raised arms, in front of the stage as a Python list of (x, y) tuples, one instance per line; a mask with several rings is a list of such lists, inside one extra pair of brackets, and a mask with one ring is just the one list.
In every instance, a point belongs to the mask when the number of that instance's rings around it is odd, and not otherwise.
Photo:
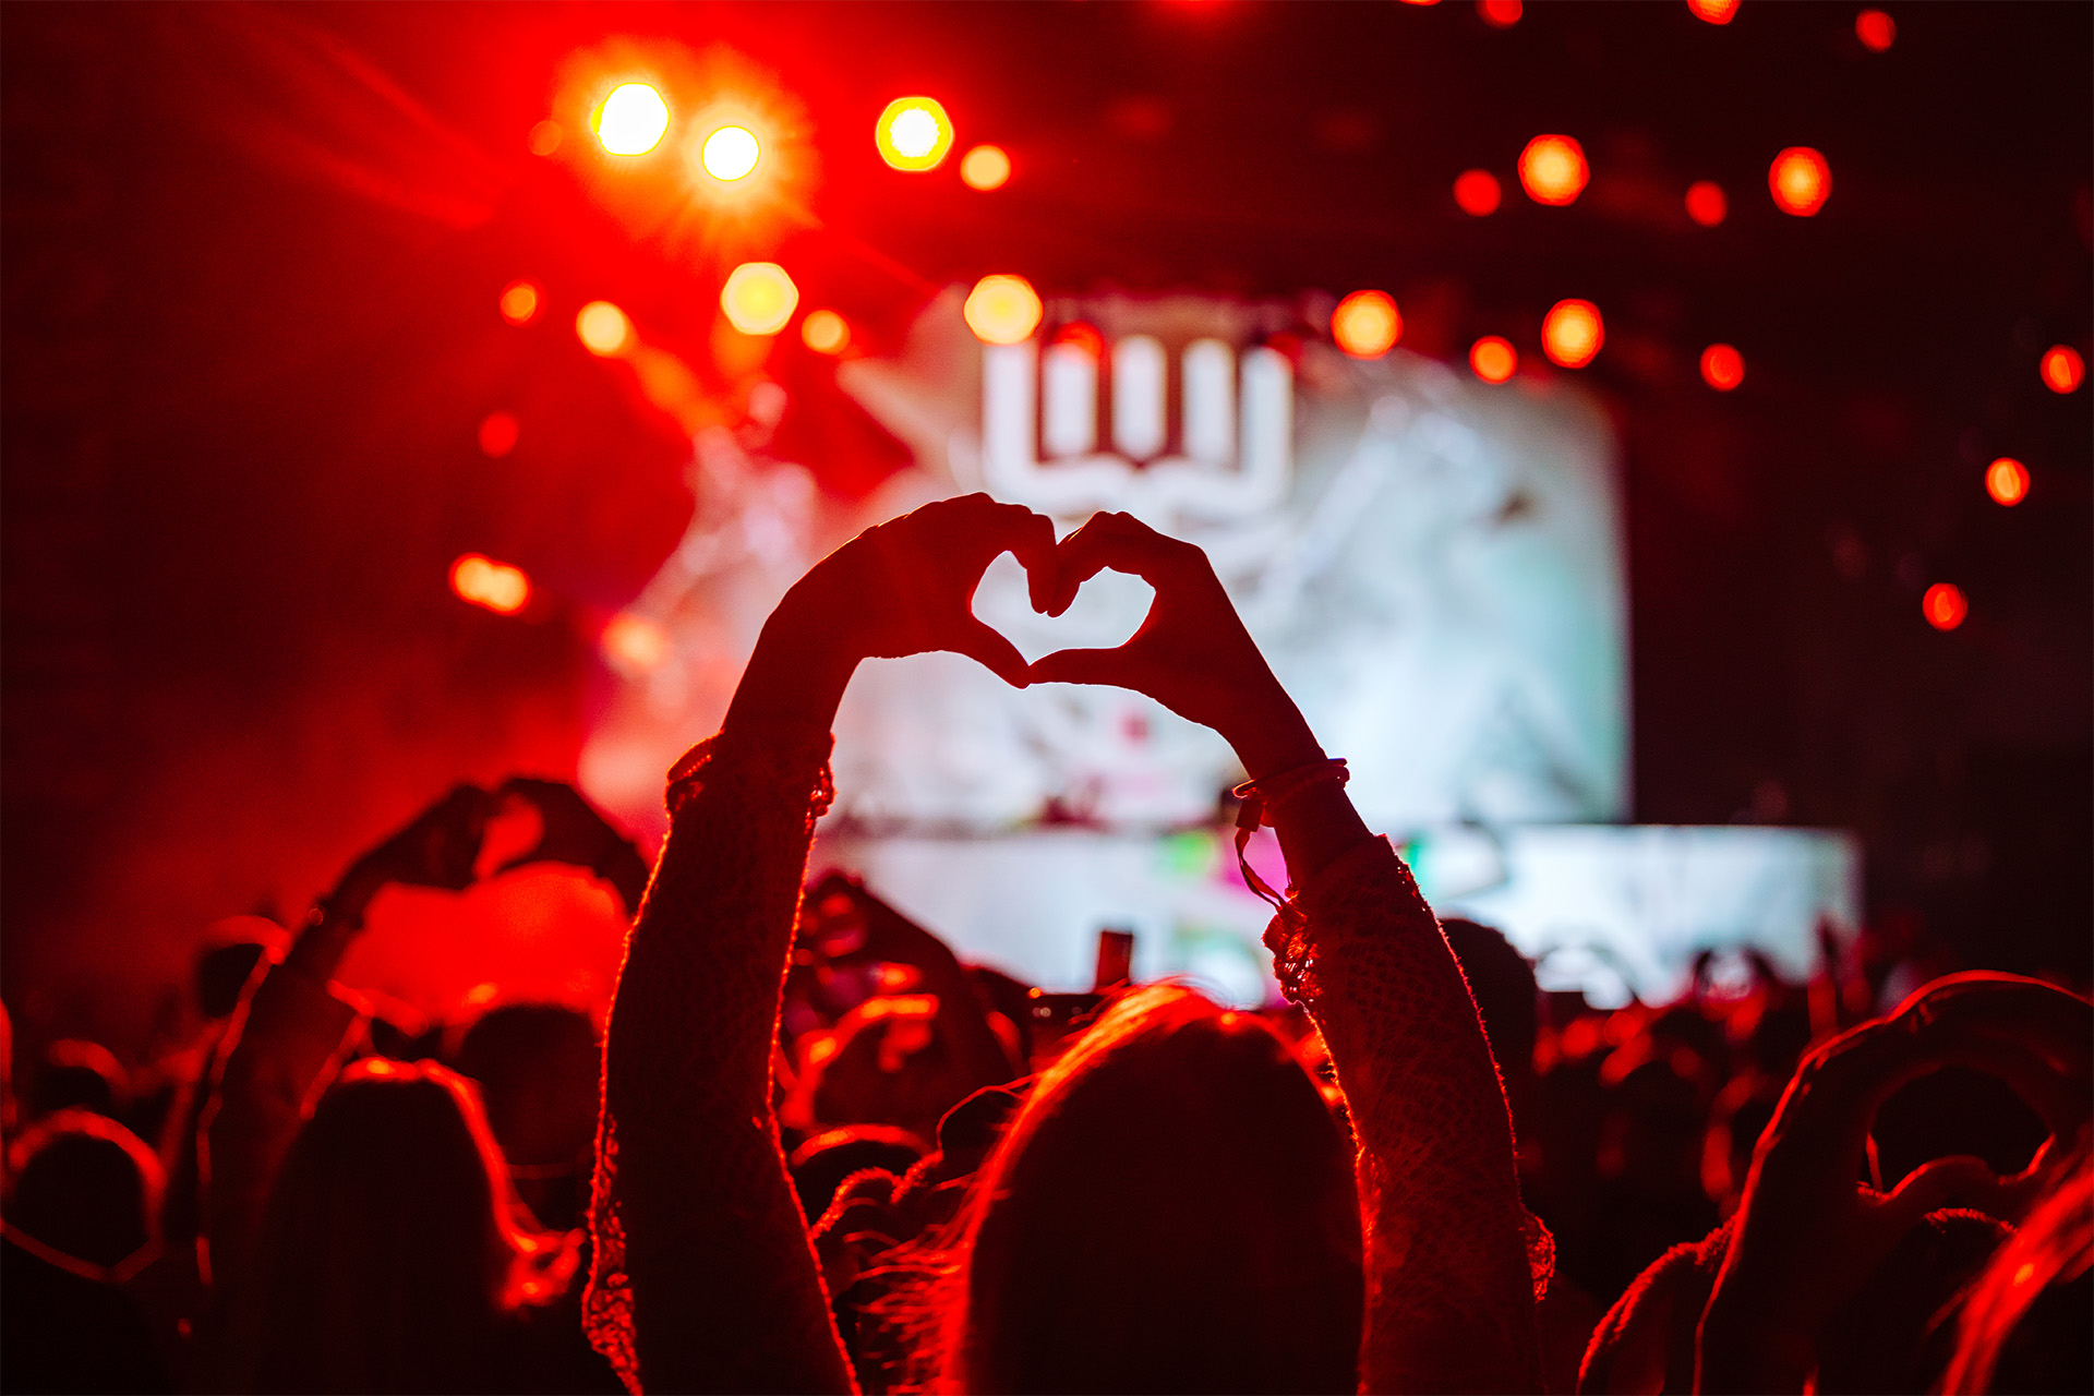
[[(1028, 663), (974, 617), (1156, 590), (1122, 647)], [(846, 875), (808, 885), (859, 661), (957, 651), (1210, 726), (1290, 885), (1286, 1003), (1047, 994)], [(465, 887), (488, 820), (632, 910), (588, 1011), (408, 1036), (333, 980), (387, 885)], [(1830, 931), (1818, 977), (1541, 994), (1434, 919), (1206, 557), (986, 496), (815, 565), (655, 866), (572, 789), (459, 787), (295, 936), (209, 948), (203, 1034), (6, 1074), (21, 1392), (2084, 1392), (2094, 1009)], [(1263, 887), (1250, 875), (1254, 887)]]

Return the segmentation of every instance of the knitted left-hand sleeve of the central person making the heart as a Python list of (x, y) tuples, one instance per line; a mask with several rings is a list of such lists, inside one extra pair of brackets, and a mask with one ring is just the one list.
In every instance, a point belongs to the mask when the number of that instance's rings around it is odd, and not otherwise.
[(852, 1390), (771, 1111), (827, 756), (827, 733), (722, 733), (670, 770), (605, 1032), (584, 1296), (634, 1392)]

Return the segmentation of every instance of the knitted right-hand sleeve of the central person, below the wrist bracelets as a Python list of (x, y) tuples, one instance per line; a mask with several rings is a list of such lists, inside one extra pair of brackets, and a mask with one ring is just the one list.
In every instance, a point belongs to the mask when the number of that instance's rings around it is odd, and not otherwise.
[(1365, 1392), (1537, 1392), (1533, 1222), (1468, 982), (1386, 839), (1300, 887), (1267, 931), (1323, 1032), (1357, 1139)]

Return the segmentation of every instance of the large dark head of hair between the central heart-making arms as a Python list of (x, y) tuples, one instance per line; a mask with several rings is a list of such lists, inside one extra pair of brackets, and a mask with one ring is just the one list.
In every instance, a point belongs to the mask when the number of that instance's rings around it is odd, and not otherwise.
[(970, 1392), (1357, 1383), (1359, 1201), (1315, 1082), (1183, 988), (1112, 1005), (974, 1187), (944, 1377)]

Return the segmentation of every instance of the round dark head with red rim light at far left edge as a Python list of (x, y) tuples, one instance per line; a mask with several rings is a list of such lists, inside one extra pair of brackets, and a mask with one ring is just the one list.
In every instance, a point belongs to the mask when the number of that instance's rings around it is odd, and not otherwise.
[(8, 1149), (8, 1224), (105, 1270), (151, 1256), (165, 1191), (144, 1141), (90, 1109), (46, 1116)]

